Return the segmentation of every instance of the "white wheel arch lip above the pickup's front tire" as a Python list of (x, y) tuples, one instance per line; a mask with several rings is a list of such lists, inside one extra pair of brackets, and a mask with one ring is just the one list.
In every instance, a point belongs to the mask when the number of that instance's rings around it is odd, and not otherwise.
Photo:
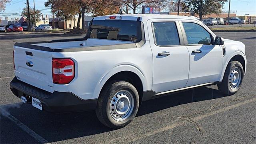
[(244, 53), (242, 53), (240, 51), (237, 51), (234, 54), (232, 54), (232, 56), (230, 56), (226, 60), (225, 65), (224, 65), (224, 67), (222, 69), (222, 75), (221, 75), (221, 79), (220, 80), (223, 79), (223, 76), (224, 76), (224, 73), (225, 73), (226, 68), (228, 66), (228, 63), (230, 63), (231, 61), (238, 61), (238, 62), (240, 62), (242, 64), (242, 66), (243, 66), (244, 75), (245, 75), (245, 73), (246, 73), (246, 57), (245, 57)]

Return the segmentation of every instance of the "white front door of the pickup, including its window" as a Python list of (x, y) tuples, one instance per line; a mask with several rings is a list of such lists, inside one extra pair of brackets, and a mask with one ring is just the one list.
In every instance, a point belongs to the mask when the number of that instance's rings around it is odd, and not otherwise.
[(184, 41), (190, 54), (189, 79), (186, 87), (220, 80), (223, 52), (203, 25), (182, 21)]

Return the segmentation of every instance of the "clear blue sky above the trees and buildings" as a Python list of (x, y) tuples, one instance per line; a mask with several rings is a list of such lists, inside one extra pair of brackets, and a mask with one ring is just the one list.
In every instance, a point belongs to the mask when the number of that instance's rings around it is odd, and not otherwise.
[[(50, 9), (46, 9), (44, 7), (44, 2), (47, 0), (34, 0), (35, 7), (38, 10), (42, 10), (42, 14), (47, 14), (50, 16)], [(0, 17), (4, 20), (5, 17), (20, 18), (20, 12), (22, 12), (22, 8), (26, 7), (26, 0), (12, 0), (11, 3), (6, 4), (6, 10), (4, 12), (0, 12)], [(33, 0), (29, 0), (30, 7), (34, 7)], [(228, 2), (224, 5), (224, 11), (228, 12)], [(244, 14), (250, 14), (256, 16), (256, 0), (231, 0), (230, 12), (236, 12), (237, 16), (244, 16)], [(2, 14), (4, 13), (4, 14)], [(15, 13), (15, 14), (14, 14)], [(50, 16), (51, 17), (51, 16)]]

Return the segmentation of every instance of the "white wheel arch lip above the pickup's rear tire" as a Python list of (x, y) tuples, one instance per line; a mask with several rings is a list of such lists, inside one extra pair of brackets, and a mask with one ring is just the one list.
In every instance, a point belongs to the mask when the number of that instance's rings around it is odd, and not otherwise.
[(94, 89), (93, 98), (98, 98), (100, 91), (102, 90), (104, 84), (107, 82), (107, 80), (111, 76), (113, 76), (114, 74), (117, 74), (118, 72), (122, 72), (122, 71), (130, 71), (130, 72), (134, 72), (135, 74), (137, 74), (137, 76), (140, 78), (140, 80), (142, 82), (143, 90), (148, 90), (147, 80), (146, 80), (143, 72), (139, 68), (137, 68), (136, 66), (133, 66), (131, 64), (121, 64), (121, 65), (115, 66), (114, 68), (112, 68), (111, 70), (106, 72), (100, 78), (100, 80), (97, 82), (96, 88)]

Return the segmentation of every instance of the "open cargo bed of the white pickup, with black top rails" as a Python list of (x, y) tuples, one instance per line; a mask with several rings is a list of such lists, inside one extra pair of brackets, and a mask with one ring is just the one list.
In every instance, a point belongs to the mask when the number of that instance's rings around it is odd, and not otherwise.
[[(65, 40), (52, 40), (42, 42), (16, 42), (14, 46), (42, 50), (48, 52), (76, 52), (88, 50), (110, 50), (122, 48), (138, 48), (138, 44), (144, 44), (144, 41), (135, 43), (120, 40), (104, 40), (95, 38), (76, 38)], [(122, 46), (120, 46), (122, 45)]]

